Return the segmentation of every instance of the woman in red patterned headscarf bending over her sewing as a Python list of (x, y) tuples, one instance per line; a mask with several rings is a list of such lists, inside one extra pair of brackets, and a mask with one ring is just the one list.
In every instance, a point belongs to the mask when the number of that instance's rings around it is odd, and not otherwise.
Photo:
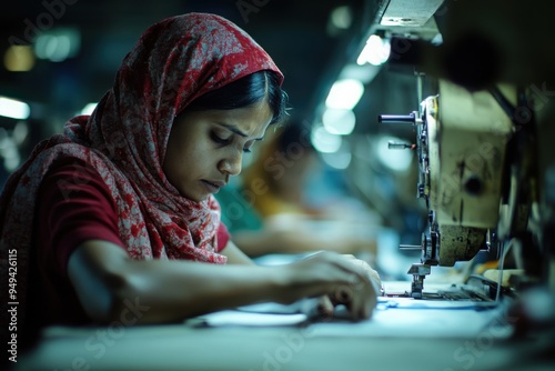
[(171, 322), (304, 297), (369, 318), (376, 299), (364, 267), (325, 253), (258, 267), (220, 223), (212, 193), (283, 116), (282, 79), (221, 17), (150, 27), (95, 111), (37, 146), (6, 186), (2, 270), (17, 255), (20, 320), (26, 309), (28, 328)]

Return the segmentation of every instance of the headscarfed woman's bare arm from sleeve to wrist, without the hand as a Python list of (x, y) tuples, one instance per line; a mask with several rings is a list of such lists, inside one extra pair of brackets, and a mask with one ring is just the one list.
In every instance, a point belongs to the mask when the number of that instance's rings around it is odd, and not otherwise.
[(284, 278), (275, 268), (191, 261), (135, 261), (104, 241), (87, 241), (71, 255), (70, 279), (95, 320), (118, 320), (130, 302), (138, 320), (171, 322), (216, 310), (280, 300)]

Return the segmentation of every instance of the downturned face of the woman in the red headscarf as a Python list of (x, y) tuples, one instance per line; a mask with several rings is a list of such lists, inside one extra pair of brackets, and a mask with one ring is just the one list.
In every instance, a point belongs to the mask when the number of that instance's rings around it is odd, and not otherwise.
[(266, 101), (234, 110), (185, 112), (173, 122), (163, 163), (181, 195), (202, 201), (241, 172), (244, 152), (272, 120)]

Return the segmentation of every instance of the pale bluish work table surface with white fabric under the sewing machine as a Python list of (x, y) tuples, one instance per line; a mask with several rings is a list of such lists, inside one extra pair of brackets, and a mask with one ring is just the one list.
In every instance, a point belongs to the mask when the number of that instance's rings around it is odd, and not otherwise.
[(13, 370), (554, 370), (553, 331), (514, 339), (509, 322), (503, 304), (408, 298), (380, 298), (357, 323), (251, 307), (182, 324), (49, 328)]

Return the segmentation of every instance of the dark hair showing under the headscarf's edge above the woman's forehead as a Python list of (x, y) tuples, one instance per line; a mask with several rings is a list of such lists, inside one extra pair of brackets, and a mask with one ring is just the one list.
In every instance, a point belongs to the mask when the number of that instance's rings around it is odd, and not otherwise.
[(280, 87), (278, 73), (263, 70), (209, 91), (192, 101), (184, 111), (233, 110), (262, 101), (268, 96), (273, 117), (271, 123), (286, 114), (287, 94)]

